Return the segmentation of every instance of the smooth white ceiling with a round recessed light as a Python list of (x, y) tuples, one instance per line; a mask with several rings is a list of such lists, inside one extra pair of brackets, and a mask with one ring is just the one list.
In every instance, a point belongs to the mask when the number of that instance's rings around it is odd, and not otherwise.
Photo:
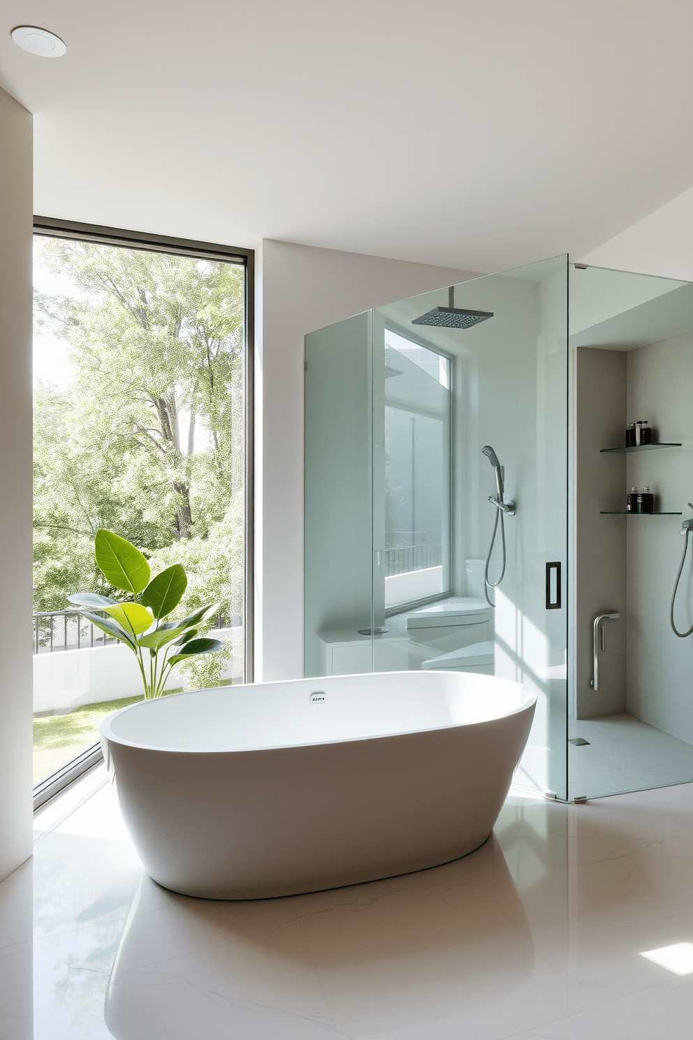
[(691, 0), (3, 0), (0, 84), (38, 213), (488, 271), (693, 185), (692, 38)]

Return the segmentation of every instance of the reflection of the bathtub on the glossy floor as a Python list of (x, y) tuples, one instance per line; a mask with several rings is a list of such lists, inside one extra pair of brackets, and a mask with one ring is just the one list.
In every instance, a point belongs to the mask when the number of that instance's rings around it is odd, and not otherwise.
[[(489, 895), (491, 899), (489, 900)], [(142, 878), (106, 997), (117, 1040), (346, 1031), (390, 1035), (507, 998), (534, 963), (500, 846), (433, 870), (263, 903), (214, 903)], [(178, 1031), (178, 1033), (176, 1032)]]

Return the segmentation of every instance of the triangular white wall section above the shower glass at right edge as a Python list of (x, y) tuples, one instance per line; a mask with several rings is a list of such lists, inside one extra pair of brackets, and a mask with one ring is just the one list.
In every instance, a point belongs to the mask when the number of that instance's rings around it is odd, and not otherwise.
[(582, 261), (693, 282), (693, 188), (604, 242)]

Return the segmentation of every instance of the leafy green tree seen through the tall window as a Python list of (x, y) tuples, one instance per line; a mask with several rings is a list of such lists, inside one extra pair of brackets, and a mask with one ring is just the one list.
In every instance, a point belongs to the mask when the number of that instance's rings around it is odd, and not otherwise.
[(76, 374), (34, 394), (34, 608), (97, 587), (105, 527), (186, 562), (186, 607), (211, 595), (240, 613), (243, 269), (50, 238), (36, 262), (74, 286), (37, 293), (35, 324)]

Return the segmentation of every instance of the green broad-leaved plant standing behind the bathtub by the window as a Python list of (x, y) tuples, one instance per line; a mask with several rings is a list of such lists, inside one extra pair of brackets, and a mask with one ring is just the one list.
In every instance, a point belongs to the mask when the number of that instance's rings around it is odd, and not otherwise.
[[(218, 603), (201, 606), (182, 621), (163, 620), (176, 609), (186, 590), (188, 579), (182, 564), (174, 564), (152, 577), (150, 565), (139, 549), (103, 528), (97, 531), (94, 548), (97, 566), (106, 581), (130, 593), (132, 599), (118, 602), (96, 592), (74, 593), (68, 599), (92, 625), (132, 650), (145, 700), (161, 697), (170, 670), (179, 660), (223, 649), (219, 640), (197, 634), (217, 613)], [(95, 610), (108, 617), (103, 618)]]

